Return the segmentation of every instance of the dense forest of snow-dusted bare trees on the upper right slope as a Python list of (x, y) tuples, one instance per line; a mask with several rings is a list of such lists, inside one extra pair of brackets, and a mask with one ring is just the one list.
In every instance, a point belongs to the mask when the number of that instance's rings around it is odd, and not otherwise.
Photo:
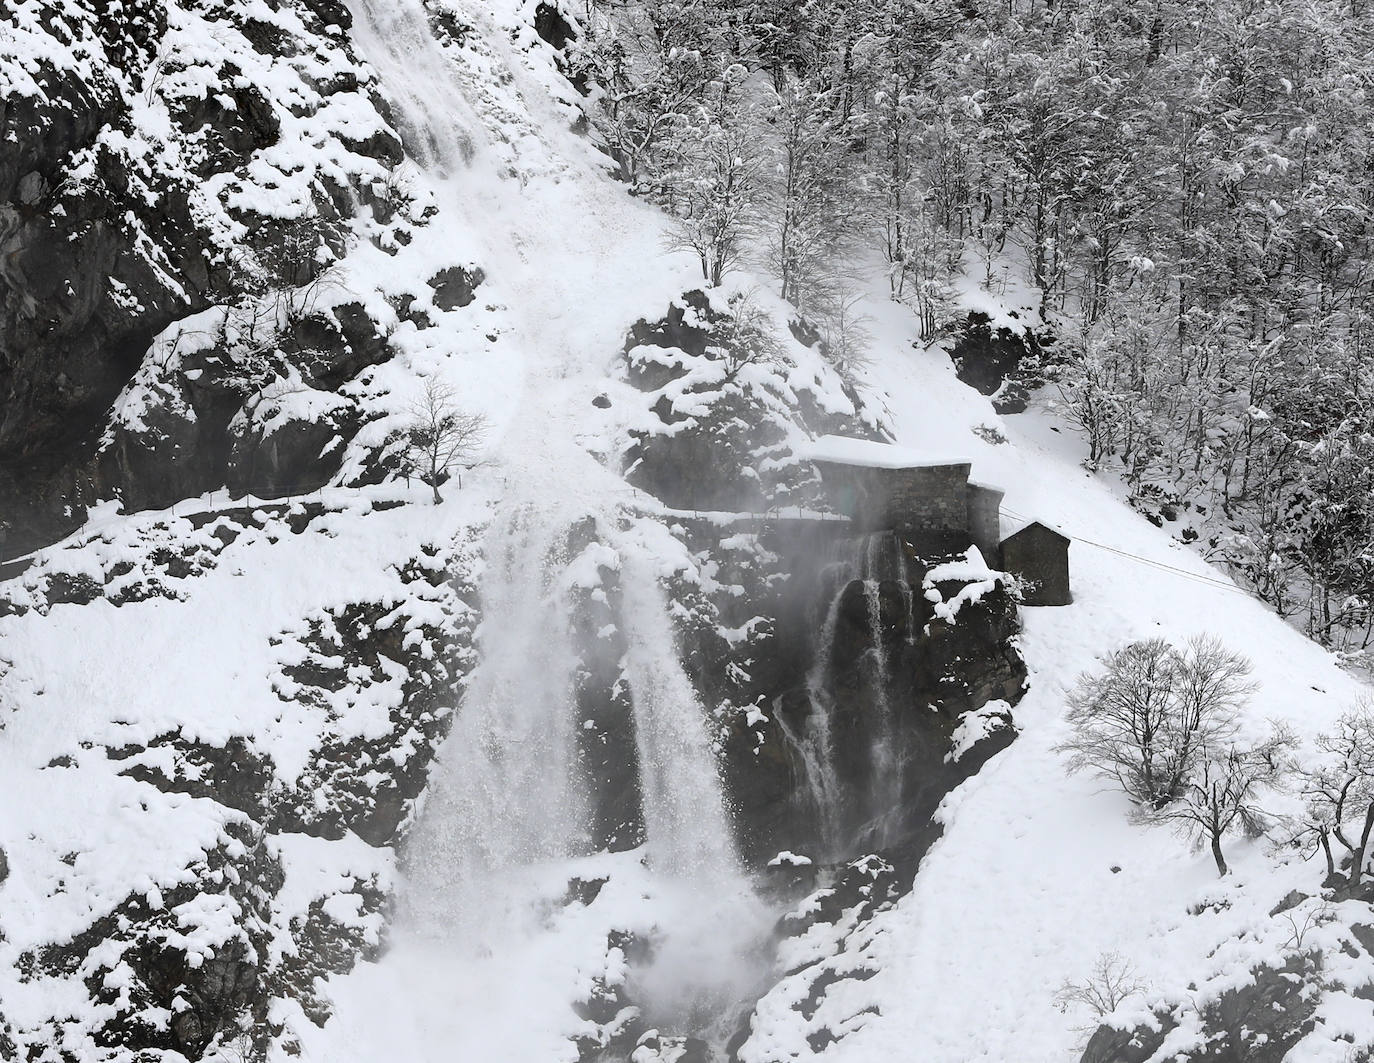
[(747, 264), (849, 349), (856, 264), (930, 341), (960, 287), (1029, 301), (1088, 466), (1312, 637), (1371, 645), (1362, 0), (596, 0), (583, 21), (594, 125), (706, 283)]

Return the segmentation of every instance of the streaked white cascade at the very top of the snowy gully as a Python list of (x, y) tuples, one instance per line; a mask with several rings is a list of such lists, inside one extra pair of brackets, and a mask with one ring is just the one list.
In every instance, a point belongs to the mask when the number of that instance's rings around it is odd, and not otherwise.
[(434, 114), (437, 99), (456, 107), (464, 92), (453, 60), (434, 38), (425, 5), (414, 0), (350, 0), (349, 11), (353, 43), (385, 85), (407, 154), (427, 170), (445, 176), (458, 172), (473, 158), (471, 132), (452, 113), (440, 121)]

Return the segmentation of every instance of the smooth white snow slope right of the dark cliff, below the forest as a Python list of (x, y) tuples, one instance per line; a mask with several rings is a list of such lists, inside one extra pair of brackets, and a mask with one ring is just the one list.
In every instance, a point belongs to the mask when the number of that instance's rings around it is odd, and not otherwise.
[[(1091, 1033), (1096, 1023), (1057, 1007), (1065, 981), (1085, 979), (1114, 952), (1162, 998), (1198, 981), (1220, 942), (1259, 933), (1289, 890), (1314, 891), (1323, 875), (1318, 861), (1276, 860), (1264, 843), (1232, 839), (1232, 876), (1219, 883), (1206, 853), (1167, 828), (1132, 824), (1125, 798), (1098, 780), (1068, 776), (1054, 747), (1068, 738), (1063, 695), (1077, 674), (1135, 639), (1219, 635), (1254, 663), (1259, 689), (1246, 718), (1254, 738), (1271, 718), (1311, 738), (1364, 687), (1087, 474), (1084, 449), (1052, 415), (999, 418), (943, 352), (914, 347), (915, 323), (901, 308), (874, 301), (867, 309), (878, 336), (870, 383), (886, 397), (896, 441), (916, 453), (969, 455), (976, 479), (1006, 488), (1004, 512), (1073, 537), (1074, 603), (1024, 608), (1022, 733), (947, 798), (945, 835), (915, 889), (838, 964), (878, 974), (841, 983), (812, 1023), (798, 1022), (785, 982), (760, 1009), (742, 1059), (867, 1063), (912, 1051), (929, 1063), (1076, 1059), (1085, 1040), (1079, 1027)], [(1009, 442), (971, 431), (985, 424)], [(1212, 900), (1228, 911), (1189, 913)], [(1248, 959), (1275, 952), (1267, 945)], [(878, 1015), (866, 1015), (870, 1008)], [(805, 1034), (823, 1025), (857, 1031), (816, 1052)]]

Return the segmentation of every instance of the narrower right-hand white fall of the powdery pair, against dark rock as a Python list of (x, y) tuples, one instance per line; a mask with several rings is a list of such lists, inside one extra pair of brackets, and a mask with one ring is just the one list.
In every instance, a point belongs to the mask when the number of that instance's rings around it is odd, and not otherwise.
[(683, 672), (666, 595), (631, 562), (621, 597), (650, 865), (675, 876), (738, 873), (706, 716)]

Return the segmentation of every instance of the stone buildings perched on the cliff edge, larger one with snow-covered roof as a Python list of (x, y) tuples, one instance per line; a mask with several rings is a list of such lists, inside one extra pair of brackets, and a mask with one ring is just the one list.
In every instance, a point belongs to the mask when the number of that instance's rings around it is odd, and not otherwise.
[(890, 444), (826, 435), (802, 452), (853, 532), (897, 532), (916, 549), (976, 545), (992, 567), (1025, 581), (1025, 604), (1068, 606), (1069, 538), (1021, 522), (1003, 536), (1003, 492), (969, 479), (966, 459), (932, 459)]

